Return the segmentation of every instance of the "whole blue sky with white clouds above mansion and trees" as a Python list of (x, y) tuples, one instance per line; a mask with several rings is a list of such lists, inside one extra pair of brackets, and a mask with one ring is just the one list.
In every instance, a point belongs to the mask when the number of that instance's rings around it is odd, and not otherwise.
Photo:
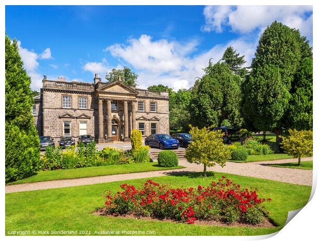
[(310, 6), (6, 6), (6, 32), (19, 41), (32, 89), (43, 75), (92, 82), (128, 66), (140, 88), (189, 88), (228, 46), (249, 65), (273, 21), (312, 43)]

